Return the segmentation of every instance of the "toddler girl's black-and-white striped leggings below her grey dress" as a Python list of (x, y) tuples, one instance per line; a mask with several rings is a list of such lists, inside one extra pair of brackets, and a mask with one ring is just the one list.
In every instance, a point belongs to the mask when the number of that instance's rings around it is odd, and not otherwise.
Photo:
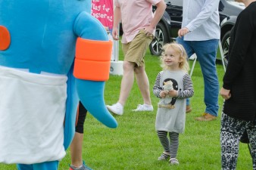
[(167, 138), (167, 131), (157, 131), (158, 138), (164, 147), (164, 151), (170, 153), (170, 158), (176, 158), (179, 147), (179, 133), (169, 132), (169, 139)]

